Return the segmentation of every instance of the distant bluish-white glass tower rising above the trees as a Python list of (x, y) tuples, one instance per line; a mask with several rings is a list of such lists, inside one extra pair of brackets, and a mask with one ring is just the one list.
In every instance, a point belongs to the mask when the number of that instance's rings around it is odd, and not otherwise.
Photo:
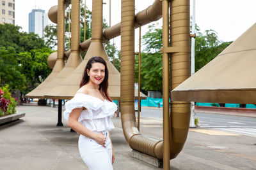
[(44, 37), (44, 29), (48, 25), (48, 16), (44, 10), (32, 10), (29, 13), (28, 31)]

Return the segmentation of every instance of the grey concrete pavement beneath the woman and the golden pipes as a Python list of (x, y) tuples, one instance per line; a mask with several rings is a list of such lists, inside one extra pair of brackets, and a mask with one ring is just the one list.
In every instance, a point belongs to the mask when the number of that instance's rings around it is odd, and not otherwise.
[[(56, 127), (58, 108), (19, 106), (17, 110), (26, 116), (0, 126), (0, 169), (87, 169), (77, 148), (79, 135), (70, 132), (64, 119), (64, 126)], [(140, 122), (141, 134), (163, 138), (161, 118)], [(114, 169), (159, 169), (132, 158), (120, 118), (113, 118), (113, 123)], [(184, 149), (170, 161), (171, 169), (256, 169), (255, 150), (252, 137), (190, 129)]]

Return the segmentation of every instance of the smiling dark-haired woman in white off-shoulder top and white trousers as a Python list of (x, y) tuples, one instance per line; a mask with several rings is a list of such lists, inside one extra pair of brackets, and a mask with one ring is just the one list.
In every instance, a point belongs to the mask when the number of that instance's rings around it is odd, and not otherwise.
[(116, 104), (108, 95), (108, 68), (104, 59), (92, 57), (73, 99), (65, 104), (68, 126), (81, 134), (79, 152), (89, 169), (113, 169), (115, 161), (109, 131)]

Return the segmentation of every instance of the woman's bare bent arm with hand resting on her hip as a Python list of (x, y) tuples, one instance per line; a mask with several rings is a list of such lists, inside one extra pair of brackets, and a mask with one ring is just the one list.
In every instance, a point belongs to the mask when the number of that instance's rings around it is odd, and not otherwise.
[(68, 126), (71, 127), (77, 133), (82, 134), (83, 136), (86, 136), (88, 138), (92, 138), (95, 141), (97, 141), (99, 145), (106, 147), (106, 136), (104, 136), (103, 134), (97, 134), (95, 132), (90, 131), (77, 121), (79, 116), (81, 115), (82, 110), (83, 108), (76, 108), (72, 110), (68, 118)]

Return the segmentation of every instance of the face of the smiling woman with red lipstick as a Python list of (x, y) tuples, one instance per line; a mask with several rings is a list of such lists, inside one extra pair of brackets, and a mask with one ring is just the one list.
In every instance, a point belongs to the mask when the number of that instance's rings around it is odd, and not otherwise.
[(94, 62), (90, 71), (87, 69), (87, 74), (90, 76), (91, 83), (100, 85), (105, 78), (105, 66), (100, 62)]

